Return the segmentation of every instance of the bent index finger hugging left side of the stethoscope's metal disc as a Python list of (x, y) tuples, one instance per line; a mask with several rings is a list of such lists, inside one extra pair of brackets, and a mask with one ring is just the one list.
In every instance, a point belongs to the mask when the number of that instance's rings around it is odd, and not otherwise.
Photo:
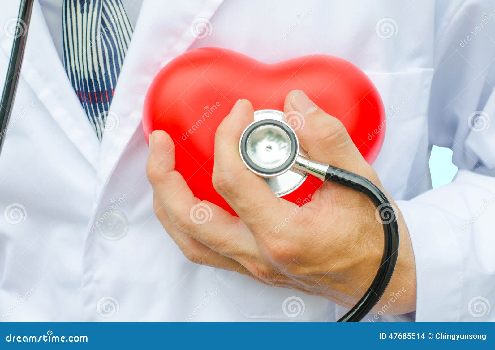
[(252, 121), (252, 105), (243, 99), (234, 105), (218, 127), (213, 186), (249, 228), (266, 227), (267, 224), (272, 227), (277, 213), (282, 212), (280, 209), (287, 202), (277, 198), (263, 178), (249, 171), (241, 160), (239, 139)]

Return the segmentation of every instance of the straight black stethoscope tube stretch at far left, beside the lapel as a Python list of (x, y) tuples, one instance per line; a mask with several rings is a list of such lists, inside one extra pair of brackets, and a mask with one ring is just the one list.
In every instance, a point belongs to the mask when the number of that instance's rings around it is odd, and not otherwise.
[(17, 90), (17, 82), (21, 73), (22, 58), (26, 46), (26, 38), (33, 10), (33, 0), (21, 0), (19, 16), (14, 32), (14, 42), (10, 51), (7, 75), (3, 84), (3, 92), (0, 101), (0, 153), (3, 146), (5, 131), (12, 110)]

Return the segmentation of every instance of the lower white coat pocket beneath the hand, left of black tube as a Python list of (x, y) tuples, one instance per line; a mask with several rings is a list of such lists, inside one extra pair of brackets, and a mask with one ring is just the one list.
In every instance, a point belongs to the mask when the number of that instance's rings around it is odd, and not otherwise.
[(335, 321), (335, 305), (323, 297), (264, 285), (237, 272), (215, 268), (222, 296), (246, 318), (288, 321)]

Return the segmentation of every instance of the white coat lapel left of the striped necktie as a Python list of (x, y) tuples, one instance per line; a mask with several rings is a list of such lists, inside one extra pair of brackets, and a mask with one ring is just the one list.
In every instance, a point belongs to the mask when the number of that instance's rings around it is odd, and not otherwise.
[[(5, 23), (9, 16), (12, 17), (13, 13), (17, 16), (18, 1), (10, 1), (9, 4), (13, 8), (0, 14), (0, 18), (3, 19), (1, 23)], [(2, 6), (7, 5), (2, 4)], [(8, 57), (12, 39), (6, 35), (0, 38), (1, 47)], [(65, 73), (38, 1), (35, 1), (33, 7), (21, 79), (29, 84), (40, 102), (56, 120), (60, 129), (65, 132), (88, 162), (96, 168), (100, 146), (98, 137)], [(53, 130), (52, 132), (56, 131)], [(50, 136), (47, 135), (47, 137)]]

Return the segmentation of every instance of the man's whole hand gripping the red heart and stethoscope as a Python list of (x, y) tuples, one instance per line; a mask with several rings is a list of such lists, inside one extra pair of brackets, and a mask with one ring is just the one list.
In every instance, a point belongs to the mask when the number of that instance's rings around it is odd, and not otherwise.
[[(286, 98), (284, 112), (291, 111), (304, 118), (304, 127), (296, 132), (312, 160), (362, 175), (385, 192), (338, 119), (298, 90)], [(251, 103), (239, 100), (215, 136), (213, 185), (239, 218), (196, 198), (174, 170), (170, 136), (164, 131), (150, 135), (147, 173), (157, 218), (192, 262), (353, 306), (371, 284), (383, 254), (383, 227), (375, 207), (364, 195), (328, 182), (302, 207), (277, 198), (239, 155), (239, 138), (252, 121)], [(207, 206), (211, 217), (202, 224), (195, 223), (198, 220), (190, 215), (195, 206)], [(390, 295), (398, 291), (400, 298), (382, 312), (400, 314), (416, 306), (414, 255), (404, 219), (398, 210), (396, 214), (398, 261), (375, 312), (390, 304)]]

